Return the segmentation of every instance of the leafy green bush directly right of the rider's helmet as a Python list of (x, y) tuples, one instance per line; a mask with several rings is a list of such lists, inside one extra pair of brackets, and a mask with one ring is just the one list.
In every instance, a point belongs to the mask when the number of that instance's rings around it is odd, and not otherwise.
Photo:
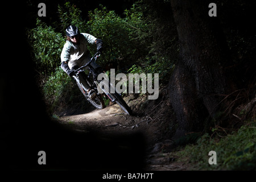
[(114, 11), (108, 11), (100, 5), (100, 9), (89, 11), (87, 24), (90, 34), (104, 40), (104, 61), (131, 60), (136, 55), (137, 43), (130, 39), (125, 20)]

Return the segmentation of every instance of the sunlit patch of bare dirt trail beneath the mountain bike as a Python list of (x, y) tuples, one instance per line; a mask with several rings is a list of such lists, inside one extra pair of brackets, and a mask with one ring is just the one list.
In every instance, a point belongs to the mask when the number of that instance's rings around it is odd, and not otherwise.
[[(98, 130), (104, 133), (132, 133), (141, 131), (150, 138), (157, 138), (157, 128), (152, 118), (126, 114), (117, 104), (90, 113), (60, 117), (59, 121), (75, 130)], [(155, 133), (155, 135), (154, 135)], [(153, 134), (153, 135), (152, 135)]]

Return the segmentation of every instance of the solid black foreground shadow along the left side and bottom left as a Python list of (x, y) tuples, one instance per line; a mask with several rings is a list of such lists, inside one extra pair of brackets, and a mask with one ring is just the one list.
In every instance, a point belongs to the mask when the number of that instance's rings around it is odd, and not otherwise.
[[(143, 135), (105, 135), (96, 131), (77, 133), (48, 118), (34, 80), (34, 64), (25, 34), (26, 27), (35, 24), (38, 2), (32, 1), (30, 6), (21, 2), (4, 3), (2, 6), (9, 10), (9, 14), (2, 15), (4, 18), (1, 33), (5, 44), (4, 52), (10, 58), (2, 60), (0, 82), (1, 169), (141, 169), (144, 164)], [(57, 11), (53, 5), (60, 1), (44, 2), (47, 7), (45, 21), (51, 21), (54, 19), (51, 19), (51, 15)], [(84, 2), (78, 1), (77, 6), (93, 10), (99, 3)], [(113, 1), (109, 6), (112, 7), (117, 2), (119, 1)], [(122, 6), (122, 3), (118, 5)], [(46, 165), (38, 164), (39, 151), (46, 152)]]

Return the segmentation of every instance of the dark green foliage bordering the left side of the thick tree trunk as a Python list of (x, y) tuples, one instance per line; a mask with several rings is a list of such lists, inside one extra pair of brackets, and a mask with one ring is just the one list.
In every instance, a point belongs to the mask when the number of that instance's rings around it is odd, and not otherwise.
[[(136, 28), (130, 28), (131, 39), (141, 43), (142, 57), (129, 71), (131, 73), (159, 73), (159, 80), (167, 84), (179, 47), (174, 20), (168, 1), (140, 1), (126, 10), (126, 20)], [(159, 11), (162, 9), (163, 11)]]

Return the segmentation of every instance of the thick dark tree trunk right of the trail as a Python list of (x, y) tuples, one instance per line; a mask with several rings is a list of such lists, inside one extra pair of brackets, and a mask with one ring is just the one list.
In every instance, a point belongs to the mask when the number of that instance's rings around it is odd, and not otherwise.
[(170, 98), (181, 133), (200, 131), (214, 118), (222, 94), (232, 90), (224, 68), (228, 47), (207, 1), (171, 0), (180, 44), (180, 59), (170, 78)]

